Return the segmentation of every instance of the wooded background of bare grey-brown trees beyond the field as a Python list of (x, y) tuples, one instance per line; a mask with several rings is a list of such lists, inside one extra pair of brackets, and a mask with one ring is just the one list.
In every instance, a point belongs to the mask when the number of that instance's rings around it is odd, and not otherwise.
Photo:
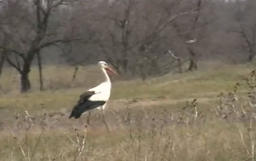
[(34, 65), (42, 78), (43, 65), (104, 60), (126, 79), (146, 79), (204, 60), (248, 63), (255, 11), (255, 0), (0, 0), (0, 76), (15, 68), (25, 92)]

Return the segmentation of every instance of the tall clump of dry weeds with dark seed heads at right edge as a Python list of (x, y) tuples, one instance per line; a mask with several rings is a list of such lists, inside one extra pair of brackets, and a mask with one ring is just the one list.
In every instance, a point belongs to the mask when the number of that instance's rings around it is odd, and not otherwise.
[[(252, 71), (248, 76), (243, 78), (242, 82), (237, 82), (234, 86), (233, 92), (228, 94), (221, 93), (219, 105), (215, 108), (216, 116), (221, 117), (224, 120), (237, 121), (237, 129), (241, 138), (243, 147), (249, 156), (249, 159), (254, 161), (254, 146), (255, 138), (253, 131), (253, 122), (256, 120), (256, 71)], [(247, 91), (246, 101), (236, 96), (239, 89), (245, 89)], [(244, 137), (244, 132), (241, 128), (241, 124), (247, 129)], [(249, 145), (246, 143), (250, 143)]]

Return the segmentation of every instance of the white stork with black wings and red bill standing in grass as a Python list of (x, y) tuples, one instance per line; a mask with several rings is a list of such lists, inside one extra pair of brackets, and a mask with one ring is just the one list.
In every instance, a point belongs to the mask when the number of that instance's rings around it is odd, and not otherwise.
[[(80, 99), (78, 100), (76, 105), (73, 107), (69, 118), (72, 118), (72, 117), (74, 117), (75, 119), (80, 118), (83, 113), (86, 113), (87, 111), (94, 108), (97, 108), (97, 109), (102, 108), (104, 111), (104, 108), (107, 104), (107, 101), (109, 100), (110, 92), (111, 92), (111, 81), (107, 72), (112, 72), (114, 74), (117, 74), (117, 73), (114, 70), (112, 70), (108, 66), (108, 64), (105, 63), (104, 61), (98, 62), (98, 65), (100, 66), (102, 72), (104, 73), (105, 81), (100, 83), (98, 86), (93, 87), (81, 94)], [(90, 112), (89, 112), (89, 116), (90, 116)]]

